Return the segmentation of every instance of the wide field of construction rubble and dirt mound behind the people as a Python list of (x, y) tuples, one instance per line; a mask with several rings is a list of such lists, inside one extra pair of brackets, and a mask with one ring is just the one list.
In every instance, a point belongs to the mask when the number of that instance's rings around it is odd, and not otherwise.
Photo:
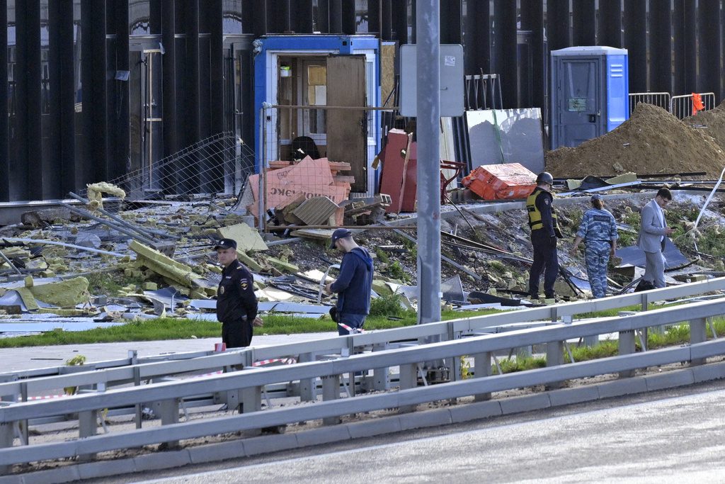
[[(666, 247), (668, 282), (724, 274), (725, 202), (720, 194), (705, 202), (725, 166), (723, 143), (723, 106), (683, 122), (639, 104), (605, 136), (549, 152), (565, 235), (557, 294), (591, 297), (583, 258), (568, 248), (592, 192), (605, 196), (618, 222), (612, 292), (632, 290), (642, 274), (642, 254), (633, 247), (638, 211), (663, 184), (674, 193), (667, 217), (677, 229)], [(239, 260), (254, 273), (262, 318), (328, 317), (335, 300), (323, 286), (340, 261), (328, 248), (338, 226), (353, 229), (375, 258), (374, 296), (397, 294), (404, 308), (415, 308), (415, 152), (410, 134), (390, 131), (378, 155), (380, 190), (373, 197), (351, 196), (355, 179), (348, 163), (305, 157), (270, 162), (264, 173), (249, 176), (238, 197), (128, 200), (119, 187), (101, 183), (89, 186), (85, 197), (70, 194), (75, 203), (28, 211), (20, 223), (0, 228), (0, 334), (164, 316), (216, 321), (221, 268), (212, 247), (221, 238), (237, 241)], [(542, 303), (526, 300), (526, 212), (508, 203), (531, 192), (536, 173), (522, 163), (474, 163), (464, 173), (461, 165), (441, 164), (442, 304), (467, 310)]]

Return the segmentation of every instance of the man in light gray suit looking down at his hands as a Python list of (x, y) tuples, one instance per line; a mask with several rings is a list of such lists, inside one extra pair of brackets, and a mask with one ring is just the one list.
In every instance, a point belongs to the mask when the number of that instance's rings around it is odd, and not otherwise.
[(669, 189), (660, 188), (654, 200), (642, 208), (642, 219), (639, 222), (637, 247), (645, 251), (647, 261), (642, 279), (655, 287), (665, 287), (665, 237), (672, 234), (674, 229), (667, 226), (663, 208), (671, 201)]

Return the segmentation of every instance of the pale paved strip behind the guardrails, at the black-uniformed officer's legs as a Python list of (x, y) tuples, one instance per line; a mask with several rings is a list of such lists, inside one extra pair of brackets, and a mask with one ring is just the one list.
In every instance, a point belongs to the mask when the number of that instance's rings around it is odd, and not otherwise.
[[(335, 337), (337, 333), (302, 333), (299, 335), (254, 336), (253, 346), (279, 345)], [(128, 343), (96, 343), (88, 345), (33, 346), (30, 348), (5, 348), (0, 350), (0, 373), (27, 369), (63, 366), (68, 358), (86, 356), (92, 361), (114, 360), (128, 357), (128, 350), (138, 351), (138, 356), (153, 356), (162, 353), (188, 353), (190, 351), (213, 350), (221, 338), (200, 338), (198, 340), (132, 341)]]

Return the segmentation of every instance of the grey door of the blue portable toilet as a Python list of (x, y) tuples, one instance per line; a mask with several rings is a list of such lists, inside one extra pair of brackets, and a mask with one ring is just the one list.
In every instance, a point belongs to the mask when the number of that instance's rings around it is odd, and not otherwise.
[(558, 139), (561, 146), (576, 147), (603, 134), (600, 60), (562, 59), (558, 67)]

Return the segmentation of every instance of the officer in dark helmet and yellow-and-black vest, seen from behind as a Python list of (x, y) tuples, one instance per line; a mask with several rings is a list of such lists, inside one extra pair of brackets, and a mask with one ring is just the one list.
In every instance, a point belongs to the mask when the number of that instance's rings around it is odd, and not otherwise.
[(554, 282), (559, 272), (559, 256), (556, 252), (556, 239), (562, 238), (556, 212), (552, 206), (554, 196), (551, 187), (554, 177), (546, 171), (537, 176), (537, 186), (526, 199), (531, 228), (531, 245), (534, 246), (534, 263), (529, 273), (529, 294), (539, 298), (539, 278), (544, 271), (544, 295), (555, 298)]

